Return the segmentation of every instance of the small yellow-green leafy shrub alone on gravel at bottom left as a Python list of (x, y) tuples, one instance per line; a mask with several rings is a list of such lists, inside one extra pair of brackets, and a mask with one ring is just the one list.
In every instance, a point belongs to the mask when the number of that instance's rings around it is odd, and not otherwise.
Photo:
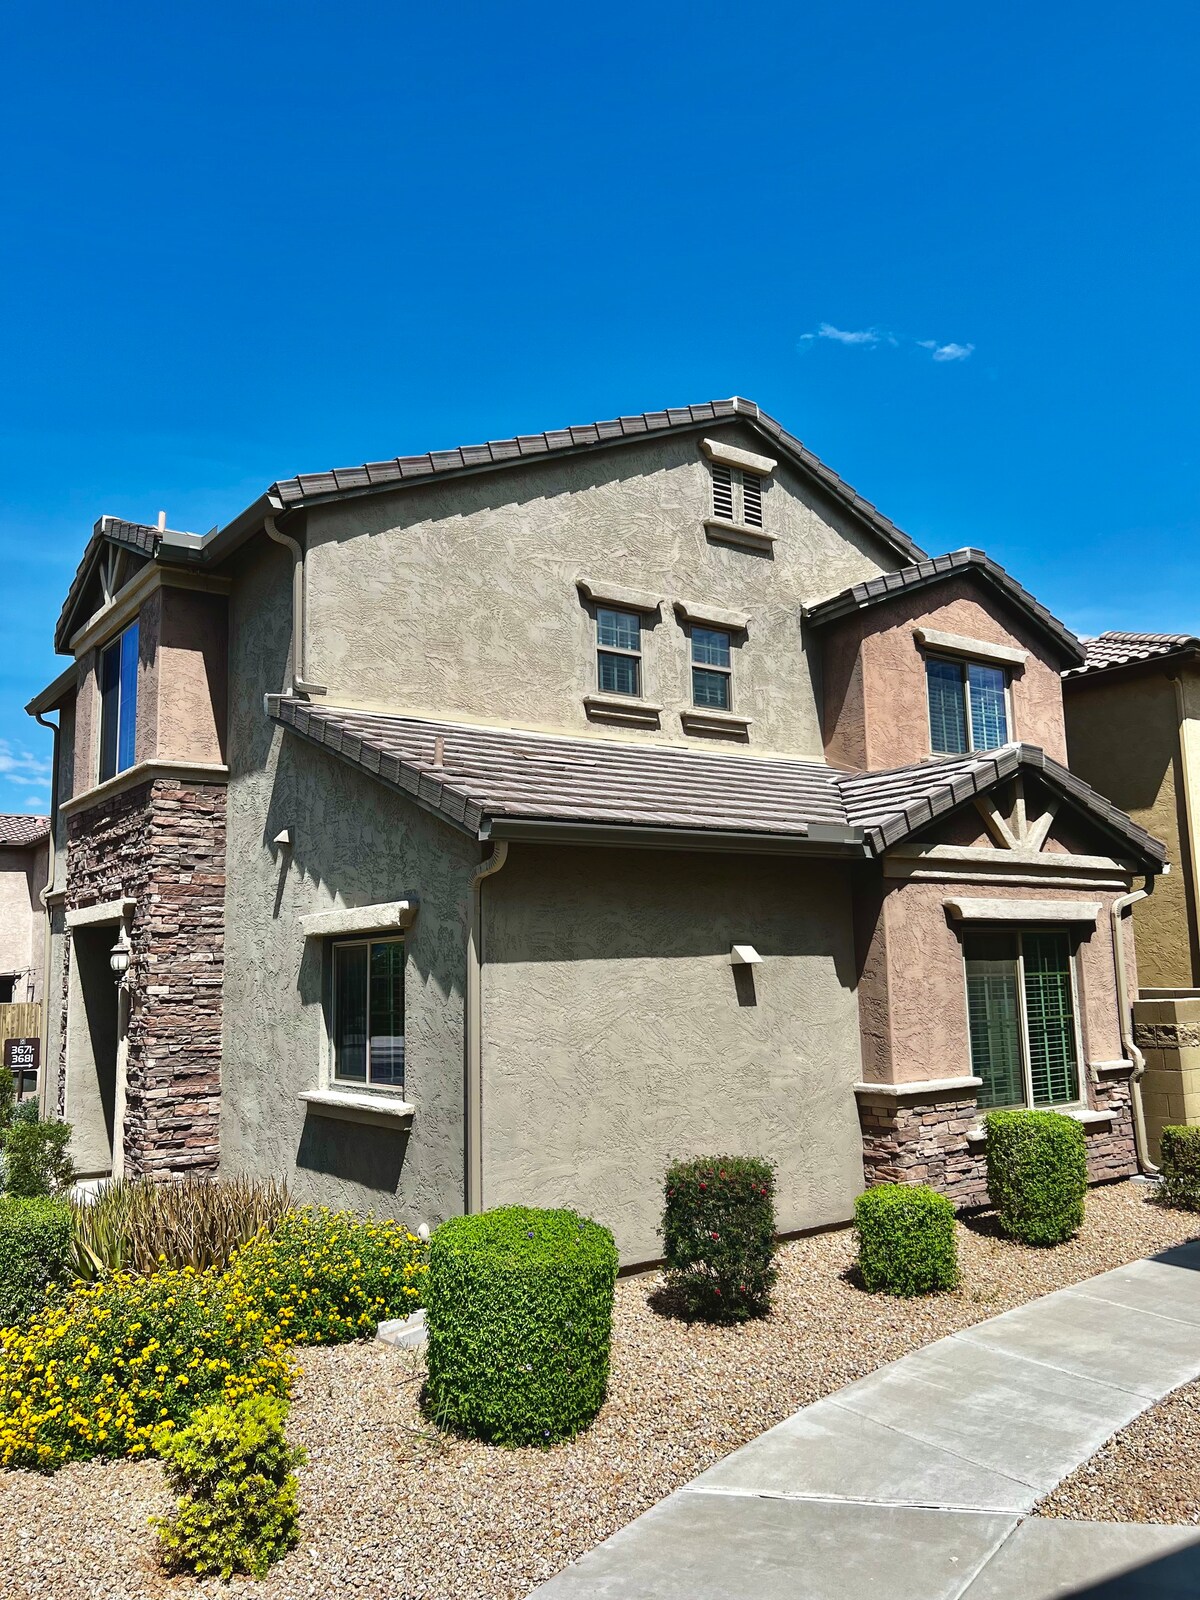
[(174, 1517), (152, 1517), (166, 1565), (197, 1574), (266, 1578), (298, 1539), (296, 1467), (286, 1402), (258, 1395), (197, 1411), (187, 1427), (155, 1434)]

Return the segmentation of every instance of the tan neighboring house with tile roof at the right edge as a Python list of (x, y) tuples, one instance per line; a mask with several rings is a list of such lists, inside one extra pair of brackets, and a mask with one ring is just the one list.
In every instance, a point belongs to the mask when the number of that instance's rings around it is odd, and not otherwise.
[(1166, 1123), (1200, 1123), (1200, 638), (1101, 634), (1064, 675), (1070, 765), (1162, 838), (1171, 872), (1133, 909), (1134, 1040), (1157, 1158)]

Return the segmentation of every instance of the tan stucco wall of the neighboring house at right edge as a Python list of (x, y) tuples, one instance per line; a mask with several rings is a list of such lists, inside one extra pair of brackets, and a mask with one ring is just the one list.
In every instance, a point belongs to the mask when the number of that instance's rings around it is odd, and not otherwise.
[(1155, 880), (1150, 898), (1133, 907), (1141, 982), (1149, 989), (1197, 984), (1194, 854), (1174, 683), (1162, 670), (1130, 677), (1101, 674), (1067, 678), (1064, 691), (1072, 771), (1162, 838), (1171, 862), (1170, 874)]

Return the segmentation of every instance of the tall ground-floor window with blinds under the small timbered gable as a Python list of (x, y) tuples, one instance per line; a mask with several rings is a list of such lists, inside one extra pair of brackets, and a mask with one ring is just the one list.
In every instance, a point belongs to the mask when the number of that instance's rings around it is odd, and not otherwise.
[(973, 933), (963, 939), (971, 1067), (979, 1106), (1062, 1106), (1078, 1099), (1070, 939), (1062, 928)]

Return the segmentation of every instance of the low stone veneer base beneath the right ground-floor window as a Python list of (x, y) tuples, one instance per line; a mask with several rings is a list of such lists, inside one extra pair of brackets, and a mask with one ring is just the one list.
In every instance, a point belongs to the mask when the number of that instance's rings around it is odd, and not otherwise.
[[(1091, 1090), (1096, 1110), (1112, 1123), (1085, 1125), (1088, 1181), (1107, 1182), (1138, 1171), (1128, 1075), (1101, 1075)], [(958, 1206), (987, 1205), (987, 1160), (981, 1139), (968, 1139), (982, 1112), (974, 1096), (859, 1093), (862, 1168), (867, 1184), (930, 1184)]]

